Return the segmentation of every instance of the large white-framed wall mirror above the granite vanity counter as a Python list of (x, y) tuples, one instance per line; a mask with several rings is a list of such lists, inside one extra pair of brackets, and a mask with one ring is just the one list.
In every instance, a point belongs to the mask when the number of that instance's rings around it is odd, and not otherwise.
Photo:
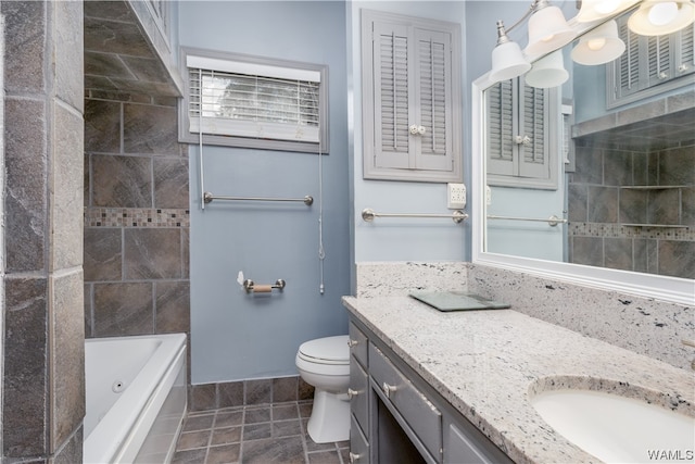
[[(473, 261), (693, 304), (695, 25), (641, 36), (633, 12), (545, 55), (558, 86), (473, 84)], [(586, 64), (599, 27), (624, 52)]]

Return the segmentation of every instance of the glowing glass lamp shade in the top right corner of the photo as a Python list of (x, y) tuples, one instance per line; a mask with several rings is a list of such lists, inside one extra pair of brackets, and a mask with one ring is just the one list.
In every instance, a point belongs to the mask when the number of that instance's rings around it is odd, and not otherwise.
[(644, 0), (628, 20), (628, 27), (641, 36), (662, 36), (695, 21), (693, 0)]

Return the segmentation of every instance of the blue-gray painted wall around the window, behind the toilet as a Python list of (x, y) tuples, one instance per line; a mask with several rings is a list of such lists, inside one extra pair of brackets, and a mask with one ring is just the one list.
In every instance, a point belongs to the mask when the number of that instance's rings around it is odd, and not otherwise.
[[(319, 294), (318, 159), (314, 153), (204, 147), (205, 189), (220, 196), (292, 197), (303, 203), (200, 205), (191, 160), (192, 383), (296, 375), (305, 340), (345, 334), (350, 292), (345, 17), (342, 2), (181, 2), (181, 46), (329, 66), (330, 148), (324, 162), (325, 294)], [(248, 294), (239, 271), (285, 291)]]

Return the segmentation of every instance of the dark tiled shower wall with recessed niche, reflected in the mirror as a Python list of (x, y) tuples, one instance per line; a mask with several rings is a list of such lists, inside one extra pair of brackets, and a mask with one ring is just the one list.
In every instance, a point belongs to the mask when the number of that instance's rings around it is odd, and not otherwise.
[(580, 143), (569, 183), (570, 262), (695, 278), (695, 141), (654, 151)]

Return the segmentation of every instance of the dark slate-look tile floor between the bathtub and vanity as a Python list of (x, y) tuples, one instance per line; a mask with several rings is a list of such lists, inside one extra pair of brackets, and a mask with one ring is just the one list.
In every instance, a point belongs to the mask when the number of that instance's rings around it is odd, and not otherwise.
[(173, 463), (348, 464), (349, 441), (308, 437), (311, 413), (311, 400), (191, 412)]

